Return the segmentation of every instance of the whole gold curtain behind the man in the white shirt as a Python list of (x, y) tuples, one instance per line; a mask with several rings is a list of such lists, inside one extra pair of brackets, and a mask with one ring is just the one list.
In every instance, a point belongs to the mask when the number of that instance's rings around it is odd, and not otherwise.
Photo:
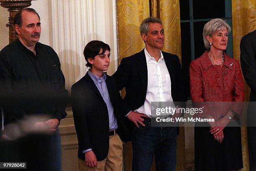
[[(163, 51), (177, 54), (181, 59), (179, 0), (117, 0), (119, 60), (141, 51), (145, 44), (139, 32), (144, 18), (161, 19), (164, 27)], [(124, 91), (122, 95), (124, 95)], [(125, 171), (131, 170), (131, 143), (124, 145)], [(177, 139), (177, 171), (185, 171), (184, 127)], [(153, 167), (151, 169), (154, 169)]]

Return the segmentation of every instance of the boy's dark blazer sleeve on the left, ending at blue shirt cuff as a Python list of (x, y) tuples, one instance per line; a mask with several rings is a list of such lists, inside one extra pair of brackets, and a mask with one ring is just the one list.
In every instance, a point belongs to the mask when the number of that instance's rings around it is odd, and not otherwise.
[(71, 96), (74, 125), (77, 131), (79, 147), (82, 150), (92, 148), (92, 145), (90, 143), (89, 131), (87, 128), (87, 112), (83, 105), (84, 98), (81, 97), (79, 87), (72, 86)]

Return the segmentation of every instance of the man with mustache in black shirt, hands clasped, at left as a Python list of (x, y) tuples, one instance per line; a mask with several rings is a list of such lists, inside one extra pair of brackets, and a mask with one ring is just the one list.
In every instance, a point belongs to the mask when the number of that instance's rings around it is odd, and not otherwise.
[(38, 42), (41, 23), (36, 10), (18, 11), (14, 28), (17, 40), (0, 51), (0, 83), (6, 125), (2, 138), (16, 140), (7, 142), (11, 145), (1, 153), (8, 161), (27, 162), (29, 171), (61, 171), (58, 125), (67, 115), (67, 90), (59, 57)]

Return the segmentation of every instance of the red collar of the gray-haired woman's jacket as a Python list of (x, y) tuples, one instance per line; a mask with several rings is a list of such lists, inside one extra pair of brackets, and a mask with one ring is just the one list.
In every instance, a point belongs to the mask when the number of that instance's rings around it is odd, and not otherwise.
[[(224, 64), (223, 65), (229, 69), (232, 69), (233, 65), (234, 65), (233, 59), (231, 59), (224, 51), (223, 51), (223, 56), (224, 56)], [(205, 51), (205, 53), (202, 54), (201, 64), (204, 69), (208, 69), (208, 68), (210, 68), (210, 66), (213, 65), (208, 56), (208, 51)]]

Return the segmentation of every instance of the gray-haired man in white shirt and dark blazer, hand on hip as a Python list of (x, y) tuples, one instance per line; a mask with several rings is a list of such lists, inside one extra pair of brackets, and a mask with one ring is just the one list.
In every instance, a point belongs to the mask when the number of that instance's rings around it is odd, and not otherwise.
[(134, 123), (132, 170), (150, 171), (155, 155), (156, 171), (175, 171), (177, 128), (152, 126), (151, 102), (187, 101), (181, 65), (178, 56), (161, 51), (164, 28), (159, 18), (144, 19), (140, 32), (145, 48), (123, 58), (113, 74), (118, 89), (125, 87), (124, 101), (131, 110), (126, 117)]

